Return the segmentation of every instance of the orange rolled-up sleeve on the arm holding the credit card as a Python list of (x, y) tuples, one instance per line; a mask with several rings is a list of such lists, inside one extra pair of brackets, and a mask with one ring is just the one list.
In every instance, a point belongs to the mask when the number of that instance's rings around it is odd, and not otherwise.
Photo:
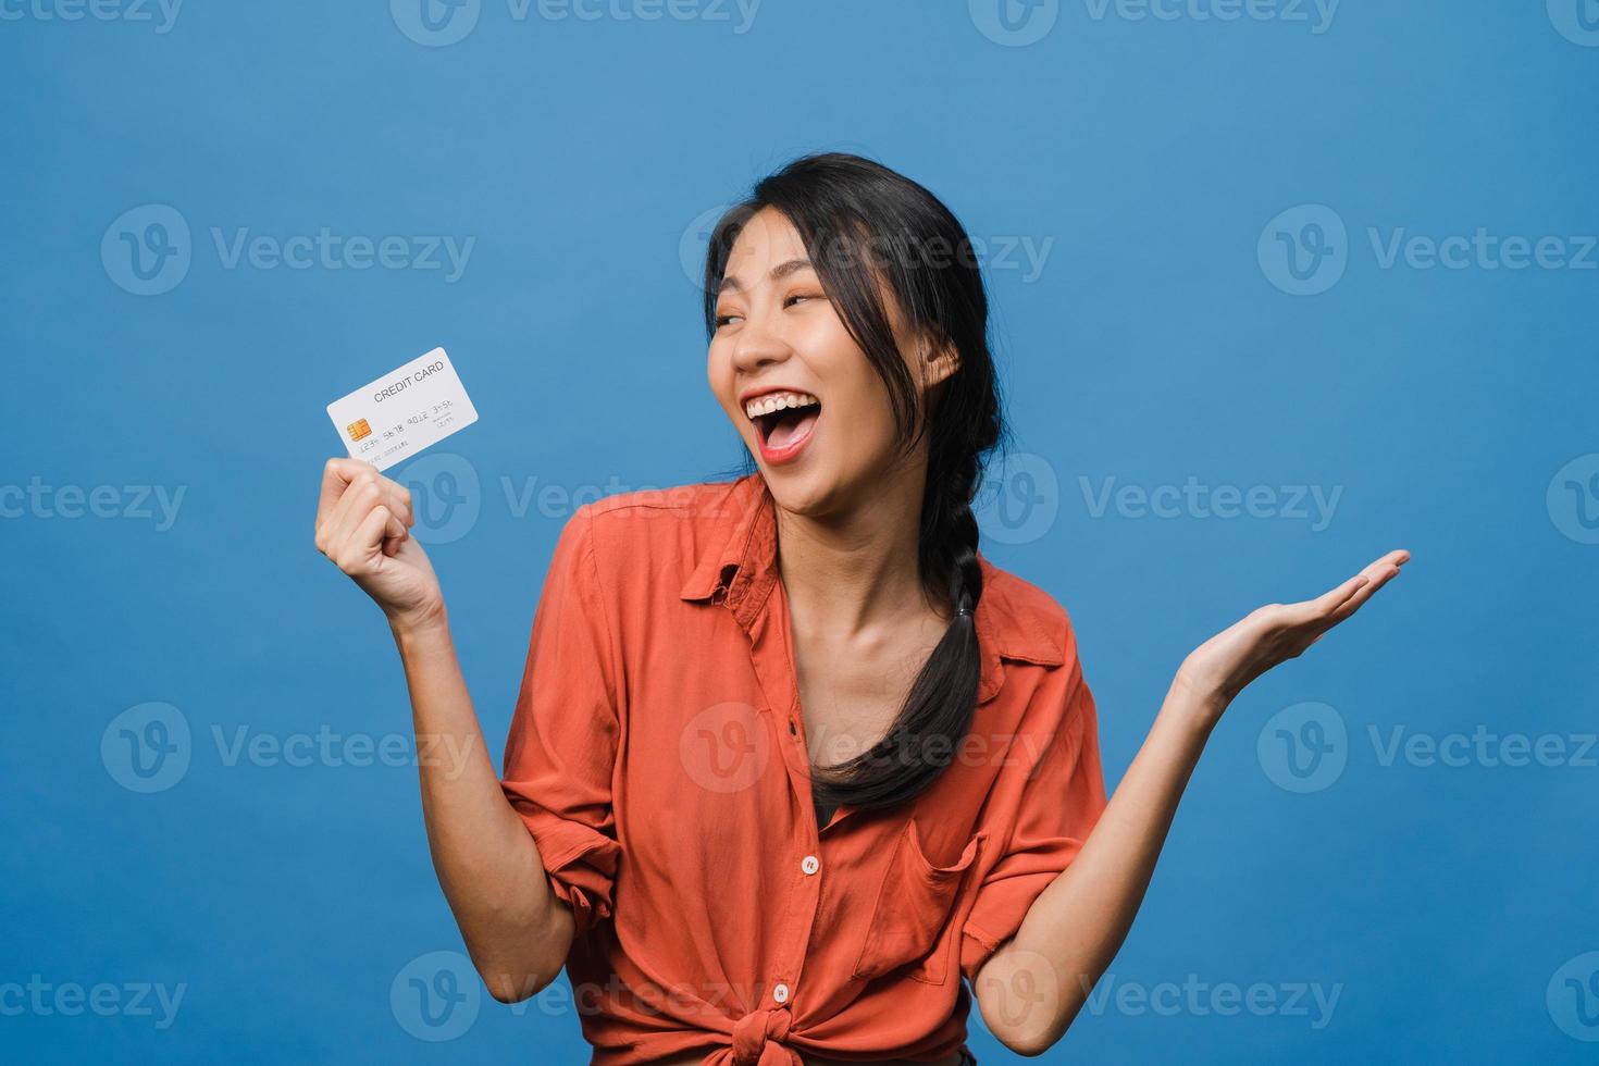
[(500, 778), (579, 933), (611, 916), (622, 850), (611, 807), (617, 649), (593, 537), (584, 505), (563, 527), (539, 595)]

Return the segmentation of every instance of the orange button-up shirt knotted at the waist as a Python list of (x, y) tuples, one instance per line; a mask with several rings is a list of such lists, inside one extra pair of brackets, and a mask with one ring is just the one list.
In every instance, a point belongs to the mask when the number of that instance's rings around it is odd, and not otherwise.
[(566, 970), (592, 1063), (964, 1045), (967, 984), (1105, 807), (1067, 612), (979, 561), (967, 737), (910, 802), (841, 804), (819, 829), (761, 475), (572, 515), (500, 783), (576, 919)]

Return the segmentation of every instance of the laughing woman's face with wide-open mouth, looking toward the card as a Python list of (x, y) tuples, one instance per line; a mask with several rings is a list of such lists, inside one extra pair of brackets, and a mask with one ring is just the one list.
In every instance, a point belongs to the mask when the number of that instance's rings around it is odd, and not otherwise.
[[(889, 318), (900, 352), (916, 358), (892, 299)], [(924, 387), (948, 372), (929, 369)], [(897, 463), (887, 387), (780, 211), (758, 211), (732, 246), (707, 376), (785, 510), (820, 516), (865, 499), (883, 478), (924, 468)], [(916, 366), (911, 377), (921, 377)]]

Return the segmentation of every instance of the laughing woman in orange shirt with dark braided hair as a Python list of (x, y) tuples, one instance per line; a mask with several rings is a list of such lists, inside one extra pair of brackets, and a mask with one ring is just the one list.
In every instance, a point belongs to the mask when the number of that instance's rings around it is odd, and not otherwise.
[(496, 999), (566, 965), (601, 1064), (1020, 1055), (1119, 949), (1223, 710), (1409, 558), (1271, 604), (1177, 671), (1107, 804), (1067, 612), (977, 550), (1003, 436), (971, 243), (926, 189), (819, 155), (761, 181), (707, 262), (731, 481), (563, 529), (497, 777), (408, 535), (328, 463), (317, 547), (377, 601), (419, 737), (440, 884)]

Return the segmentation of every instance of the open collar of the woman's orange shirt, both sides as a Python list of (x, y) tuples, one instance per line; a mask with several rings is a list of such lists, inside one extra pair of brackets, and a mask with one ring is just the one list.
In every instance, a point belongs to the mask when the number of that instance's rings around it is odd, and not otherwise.
[[(718, 532), (683, 585), (681, 598), (726, 606), (748, 630), (777, 582), (777, 511), (766, 479), (756, 471), (726, 483), (713, 497), (713, 515), (721, 518)], [(982, 652), (977, 702), (985, 703), (1004, 681), (1003, 660), (1060, 666), (1065, 657), (1060, 641), (1031, 612), (1017, 607), (1011, 595), (1015, 579), (982, 551), (977, 563), (983, 571), (983, 595), (974, 611)]]

